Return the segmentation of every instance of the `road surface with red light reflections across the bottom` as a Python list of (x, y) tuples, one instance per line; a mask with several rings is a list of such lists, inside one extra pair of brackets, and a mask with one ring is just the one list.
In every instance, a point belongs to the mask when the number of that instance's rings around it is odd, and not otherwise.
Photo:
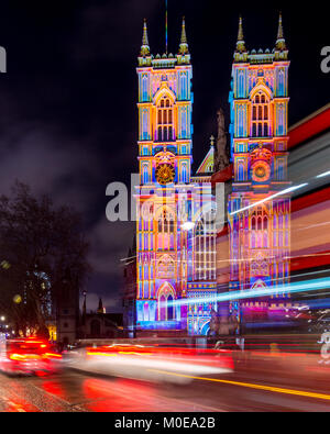
[(0, 374), (0, 411), (328, 412), (329, 374), (320, 371), (319, 366), (315, 368), (316, 374), (301, 375), (298, 369), (280, 369), (275, 359), (254, 367), (245, 357), (235, 360), (231, 374), (187, 376), (190, 382), (186, 385), (101, 377), (73, 369), (33, 377)]

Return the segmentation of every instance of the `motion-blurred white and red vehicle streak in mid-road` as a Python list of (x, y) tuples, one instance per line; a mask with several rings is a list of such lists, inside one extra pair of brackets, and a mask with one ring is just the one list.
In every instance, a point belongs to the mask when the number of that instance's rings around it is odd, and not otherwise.
[(233, 370), (229, 349), (174, 345), (111, 344), (77, 348), (67, 366), (92, 372), (154, 381), (187, 382), (193, 376)]

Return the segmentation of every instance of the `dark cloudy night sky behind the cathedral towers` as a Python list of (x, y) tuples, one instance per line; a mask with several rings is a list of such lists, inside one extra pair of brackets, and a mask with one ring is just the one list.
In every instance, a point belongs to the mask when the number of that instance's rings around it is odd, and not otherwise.
[[(249, 7), (251, 3), (251, 7)], [(330, 45), (321, 2), (299, 11), (279, 2), (241, 5), (220, 0), (168, 0), (168, 52), (177, 53), (182, 16), (194, 67), (194, 157), (198, 165), (216, 134), (216, 112), (228, 114), (238, 16), (248, 49), (273, 48), (279, 9), (289, 48), (289, 124), (330, 101), (330, 74), (320, 70)], [(88, 309), (101, 296), (121, 305), (120, 258), (132, 243), (131, 223), (110, 223), (106, 187), (129, 183), (138, 170), (136, 56), (146, 18), (154, 55), (165, 51), (165, 1), (0, 1), (0, 193), (15, 179), (82, 213), (94, 274)], [(287, 4), (285, 2), (284, 4)], [(196, 166), (195, 166), (196, 168)]]

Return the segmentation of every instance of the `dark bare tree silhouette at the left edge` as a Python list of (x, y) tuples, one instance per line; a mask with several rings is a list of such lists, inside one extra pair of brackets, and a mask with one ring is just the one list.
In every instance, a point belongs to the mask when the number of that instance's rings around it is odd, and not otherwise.
[(0, 197), (0, 313), (16, 332), (47, 335), (63, 291), (78, 291), (90, 271), (87, 252), (80, 215), (69, 207), (55, 208), (21, 182)]

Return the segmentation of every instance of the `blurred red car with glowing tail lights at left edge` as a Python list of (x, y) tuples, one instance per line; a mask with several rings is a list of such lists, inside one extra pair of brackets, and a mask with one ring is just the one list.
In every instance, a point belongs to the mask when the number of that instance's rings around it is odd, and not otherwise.
[(59, 368), (61, 360), (62, 355), (44, 340), (31, 337), (0, 342), (0, 370), (6, 374), (54, 372)]

